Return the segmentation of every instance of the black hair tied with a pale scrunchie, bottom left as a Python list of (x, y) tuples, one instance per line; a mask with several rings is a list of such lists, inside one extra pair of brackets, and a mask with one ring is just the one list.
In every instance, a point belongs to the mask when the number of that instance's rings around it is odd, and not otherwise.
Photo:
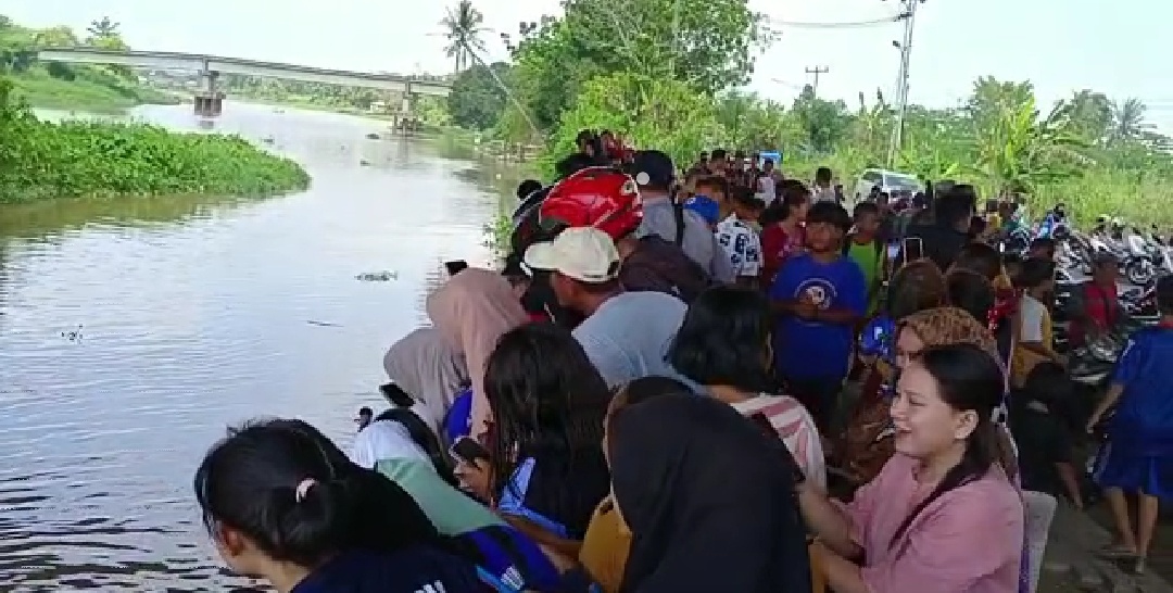
[(194, 486), (210, 533), (231, 527), (274, 560), (303, 567), (347, 550), (445, 546), (407, 492), (299, 420), (229, 429)]

